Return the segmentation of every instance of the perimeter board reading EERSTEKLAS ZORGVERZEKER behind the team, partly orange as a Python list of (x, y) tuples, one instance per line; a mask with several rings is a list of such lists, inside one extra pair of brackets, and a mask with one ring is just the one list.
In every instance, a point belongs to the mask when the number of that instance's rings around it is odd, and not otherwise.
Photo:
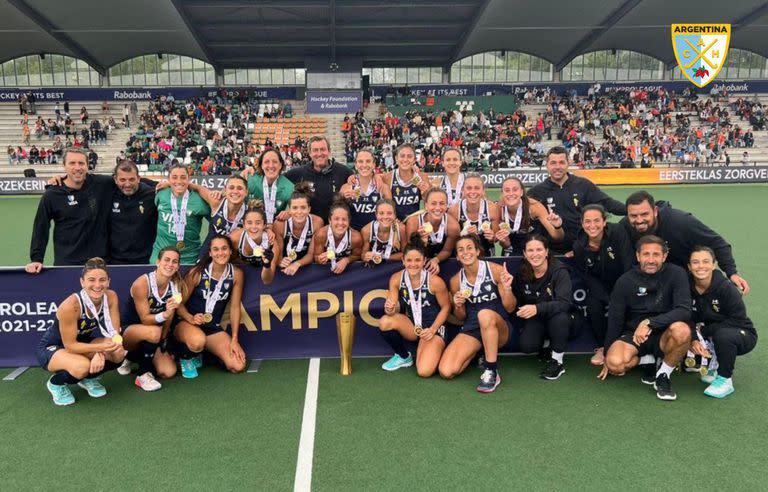
[[(768, 166), (654, 167), (649, 169), (577, 169), (572, 171), (597, 185), (663, 185), (768, 183)], [(508, 177), (520, 178), (526, 186), (547, 179), (545, 169), (513, 169), (481, 173), (485, 185), (500, 188)], [(151, 176), (148, 176), (151, 177)], [(156, 176), (162, 179), (162, 176)], [(192, 181), (210, 189), (222, 189), (229, 176), (193, 176)], [(39, 195), (45, 178), (0, 178), (0, 195)]]

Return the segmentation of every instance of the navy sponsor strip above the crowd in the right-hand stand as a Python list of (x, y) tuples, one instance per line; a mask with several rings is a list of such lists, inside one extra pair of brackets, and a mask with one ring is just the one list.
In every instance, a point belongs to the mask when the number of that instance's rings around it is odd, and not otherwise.
[[(477, 85), (453, 85), (453, 84), (434, 84), (434, 85), (413, 85), (408, 86), (409, 93), (413, 96), (436, 95), (436, 96), (484, 96), (489, 93), (494, 94), (521, 94), (530, 90), (549, 88), (556, 94), (576, 91), (576, 94), (585, 96), (592, 82), (573, 82), (573, 83), (554, 83), (538, 82), (528, 84), (477, 84)], [(380, 97), (387, 95), (390, 88), (388, 85), (371, 86), (371, 91)], [(734, 80), (712, 82), (707, 87), (698, 88), (688, 81), (644, 81), (644, 82), (600, 82), (600, 92), (607, 93), (611, 90), (629, 92), (633, 90), (657, 91), (664, 88), (668, 91), (682, 92), (685, 89), (691, 89), (696, 93), (709, 94), (712, 89), (718, 91), (725, 90), (729, 94), (753, 94), (758, 92), (768, 92), (768, 80)], [(402, 90), (402, 87), (397, 87)]]

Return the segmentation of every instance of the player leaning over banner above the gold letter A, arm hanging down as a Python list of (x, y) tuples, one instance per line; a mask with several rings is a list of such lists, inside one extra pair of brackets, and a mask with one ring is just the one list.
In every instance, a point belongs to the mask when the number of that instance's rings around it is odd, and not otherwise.
[(236, 229), (232, 242), (237, 245), (240, 259), (255, 268), (261, 268), (261, 280), (269, 285), (275, 278), (275, 270), (281, 260), (282, 238), (267, 231), (267, 214), (261, 200), (248, 202), (248, 210), (243, 217), (244, 226)]

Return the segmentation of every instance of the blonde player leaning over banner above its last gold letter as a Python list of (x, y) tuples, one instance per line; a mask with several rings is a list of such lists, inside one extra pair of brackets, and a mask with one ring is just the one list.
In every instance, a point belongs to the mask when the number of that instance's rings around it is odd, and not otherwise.
[(363, 237), (362, 257), (367, 264), (402, 261), (406, 244), (405, 226), (397, 220), (392, 200), (382, 198), (376, 203), (376, 220), (363, 227), (360, 235)]

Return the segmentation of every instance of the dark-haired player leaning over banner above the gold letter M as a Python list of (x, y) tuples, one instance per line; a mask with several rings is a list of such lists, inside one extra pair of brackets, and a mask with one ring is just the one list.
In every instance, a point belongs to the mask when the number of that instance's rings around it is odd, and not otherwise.
[(286, 275), (295, 275), (300, 267), (315, 260), (313, 238), (322, 229), (323, 219), (311, 213), (311, 200), (311, 184), (306, 181), (297, 183), (288, 199), (288, 220), (274, 224), (275, 236), (282, 238), (280, 268)]

